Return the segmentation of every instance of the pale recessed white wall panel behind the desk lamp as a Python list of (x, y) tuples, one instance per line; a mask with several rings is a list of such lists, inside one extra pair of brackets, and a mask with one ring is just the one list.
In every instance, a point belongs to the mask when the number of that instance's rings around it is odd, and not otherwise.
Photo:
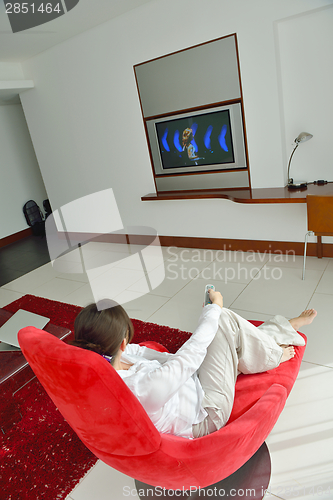
[(313, 134), (293, 156), (290, 174), (294, 180), (333, 181), (332, 32), (332, 6), (276, 23), (286, 155), (300, 132)]

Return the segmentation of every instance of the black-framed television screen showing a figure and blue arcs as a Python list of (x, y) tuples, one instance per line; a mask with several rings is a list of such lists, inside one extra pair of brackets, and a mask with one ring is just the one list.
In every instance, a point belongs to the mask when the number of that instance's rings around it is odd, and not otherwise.
[(235, 162), (228, 109), (160, 121), (155, 127), (163, 169)]

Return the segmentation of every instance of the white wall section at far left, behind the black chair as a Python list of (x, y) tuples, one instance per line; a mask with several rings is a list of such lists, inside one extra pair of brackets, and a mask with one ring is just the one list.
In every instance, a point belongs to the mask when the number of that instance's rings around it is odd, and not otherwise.
[(42, 208), (46, 198), (22, 106), (0, 106), (0, 238), (28, 227), (25, 202), (33, 199)]

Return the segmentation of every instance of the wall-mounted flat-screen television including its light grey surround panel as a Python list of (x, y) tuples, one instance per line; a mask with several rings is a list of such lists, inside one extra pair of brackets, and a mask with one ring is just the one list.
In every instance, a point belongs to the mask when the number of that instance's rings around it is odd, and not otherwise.
[(147, 121), (155, 175), (246, 169), (240, 103)]

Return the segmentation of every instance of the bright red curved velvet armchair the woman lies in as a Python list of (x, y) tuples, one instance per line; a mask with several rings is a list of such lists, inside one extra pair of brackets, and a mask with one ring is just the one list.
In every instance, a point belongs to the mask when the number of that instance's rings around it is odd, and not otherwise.
[(209, 486), (249, 460), (281, 413), (305, 350), (296, 347), (292, 360), (269, 372), (240, 375), (228, 424), (186, 439), (160, 434), (102, 356), (33, 327), (20, 330), (18, 338), (38, 379), (91, 452), (128, 476), (166, 489)]

